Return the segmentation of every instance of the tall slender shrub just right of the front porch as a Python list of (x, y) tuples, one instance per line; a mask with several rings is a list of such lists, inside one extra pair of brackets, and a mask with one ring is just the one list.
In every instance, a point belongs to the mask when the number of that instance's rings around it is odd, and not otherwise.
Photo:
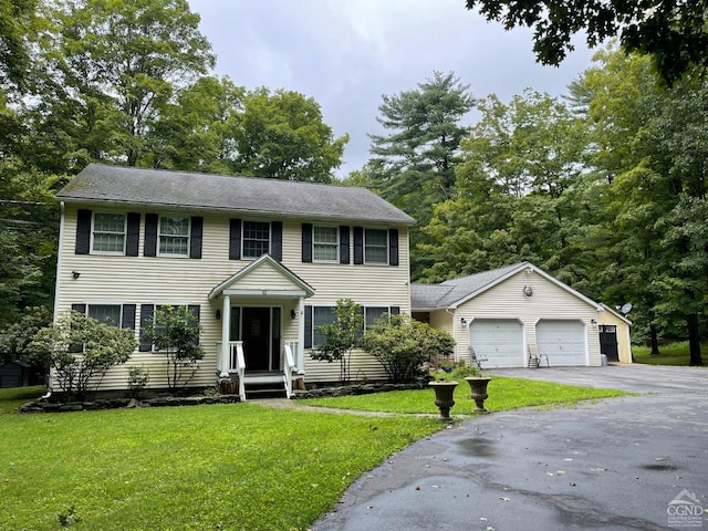
[(340, 299), (334, 309), (334, 321), (317, 327), (324, 343), (311, 352), (313, 360), (327, 363), (340, 362), (340, 381), (348, 382), (352, 351), (360, 344), (364, 330), (364, 313), (361, 304), (351, 299)]

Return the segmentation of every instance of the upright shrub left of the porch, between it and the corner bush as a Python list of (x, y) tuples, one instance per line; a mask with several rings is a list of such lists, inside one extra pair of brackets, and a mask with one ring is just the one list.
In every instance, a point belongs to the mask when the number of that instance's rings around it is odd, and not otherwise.
[(199, 320), (189, 306), (160, 306), (143, 330), (143, 340), (153, 343), (156, 354), (165, 356), (170, 391), (187, 386), (199, 369), (198, 362), (204, 358), (200, 331)]

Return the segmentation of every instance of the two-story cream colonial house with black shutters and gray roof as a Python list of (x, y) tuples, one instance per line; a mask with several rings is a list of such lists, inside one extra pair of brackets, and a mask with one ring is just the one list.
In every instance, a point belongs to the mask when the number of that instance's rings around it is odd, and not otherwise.
[[(339, 299), (368, 324), (410, 312), (414, 219), (364, 188), (92, 164), (56, 199), (55, 315), (73, 309), (139, 337), (156, 308), (189, 306), (206, 353), (192, 386), (336, 381), (339, 364), (309, 353)], [(164, 356), (142, 342), (101, 389), (126, 388), (136, 365), (166, 386)], [(385, 377), (363, 352), (351, 374)]]

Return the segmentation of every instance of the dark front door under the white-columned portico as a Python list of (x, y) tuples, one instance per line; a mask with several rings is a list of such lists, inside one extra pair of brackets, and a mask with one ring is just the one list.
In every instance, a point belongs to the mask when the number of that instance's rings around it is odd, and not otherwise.
[(246, 371), (280, 371), (280, 308), (232, 308), (231, 341), (238, 340)]

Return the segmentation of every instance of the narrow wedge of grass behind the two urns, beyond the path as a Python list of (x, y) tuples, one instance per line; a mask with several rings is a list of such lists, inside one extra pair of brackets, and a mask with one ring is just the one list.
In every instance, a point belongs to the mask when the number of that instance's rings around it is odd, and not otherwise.
[[(489, 398), (485, 407), (490, 412), (503, 412), (529, 406), (571, 405), (580, 400), (610, 398), (627, 393), (616, 389), (595, 389), (574, 385), (532, 382), (522, 378), (492, 376), (488, 387)], [(455, 406), (451, 415), (471, 415), (475, 402), (469, 398), (467, 382), (460, 382), (455, 388)], [(373, 395), (339, 396), (332, 398), (311, 398), (308, 405), (334, 407), (340, 409), (361, 409), (399, 414), (436, 414), (431, 389), (394, 391)]]

